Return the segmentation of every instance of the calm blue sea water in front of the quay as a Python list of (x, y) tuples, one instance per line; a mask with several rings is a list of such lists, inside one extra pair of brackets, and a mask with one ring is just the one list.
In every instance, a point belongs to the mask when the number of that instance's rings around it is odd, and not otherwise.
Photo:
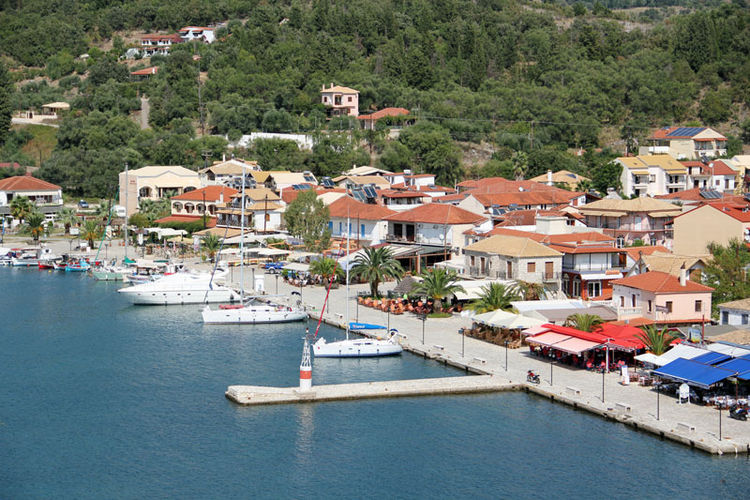
[[(298, 383), (302, 324), (205, 327), (117, 288), (0, 268), (0, 498), (747, 497), (744, 457), (525, 394), (238, 407), (229, 384)], [(313, 376), (463, 374), (403, 355)]]

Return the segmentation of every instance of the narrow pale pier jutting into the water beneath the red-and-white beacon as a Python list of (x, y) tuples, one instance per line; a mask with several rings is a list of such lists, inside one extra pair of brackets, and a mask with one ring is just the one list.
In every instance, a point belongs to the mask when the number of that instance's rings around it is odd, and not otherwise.
[(297, 387), (232, 385), (225, 395), (245, 406), (288, 403), (314, 403), (353, 399), (475, 394), (518, 390), (517, 384), (491, 375), (441, 377), (415, 380), (387, 380), (356, 384), (316, 385), (310, 391)]

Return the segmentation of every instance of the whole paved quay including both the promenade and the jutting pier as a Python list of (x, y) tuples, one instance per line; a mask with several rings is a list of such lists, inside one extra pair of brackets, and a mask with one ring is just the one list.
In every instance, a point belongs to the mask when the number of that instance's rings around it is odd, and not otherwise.
[[(274, 290), (275, 276), (267, 275), (266, 278), (267, 289)], [(365, 290), (367, 286), (359, 285), (359, 288)], [(286, 283), (279, 283), (280, 293), (289, 293), (293, 289), (297, 290)], [(302, 294), (310, 317), (317, 320), (320, 310), (315, 304), (323, 303), (325, 289), (309, 287)], [(528, 349), (507, 349), (462, 337), (458, 331), (471, 326), (472, 320), (468, 317), (453, 315), (450, 318), (430, 318), (425, 325), (413, 315), (388, 316), (380, 310), (352, 304), (353, 298), (349, 302), (349, 317), (353, 320), (395, 327), (399, 331), (399, 343), (405, 351), (456, 367), (471, 375), (328, 386), (313, 384), (312, 390), (304, 394), (296, 387), (235, 385), (227, 389), (226, 397), (241, 405), (267, 405), (519, 391), (691, 449), (715, 455), (750, 456), (750, 422), (732, 420), (728, 418), (726, 410), (677, 404), (674, 395), (659, 394), (652, 387), (621, 384), (617, 373), (584, 372), (531, 356)], [(346, 303), (345, 290), (331, 290), (323, 321), (345, 328)], [(374, 331), (361, 333), (374, 337), (382, 335)], [(528, 383), (527, 370), (539, 374), (541, 383)]]

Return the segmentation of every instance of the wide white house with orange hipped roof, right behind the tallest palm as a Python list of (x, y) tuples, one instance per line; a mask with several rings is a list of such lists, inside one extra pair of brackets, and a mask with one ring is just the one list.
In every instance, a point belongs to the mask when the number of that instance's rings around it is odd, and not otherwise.
[(386, 241), (448, 247), (458, 253), (465, 245), (468, 229), (489, 231), (490, 219), (453, 205), (427, 203), (384, 218), (388, 222)]

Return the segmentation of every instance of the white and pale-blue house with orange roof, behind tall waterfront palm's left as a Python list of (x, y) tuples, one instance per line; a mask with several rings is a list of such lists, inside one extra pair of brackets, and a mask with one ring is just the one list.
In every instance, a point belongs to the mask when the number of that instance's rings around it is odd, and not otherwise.
[(362, 203), (350, 196), (340, 196), (328, 205), (328, 229), (333, 238), (346, 238), (376, 245), (388, 234), (386, 217), (395, 214), (382, 205)]

